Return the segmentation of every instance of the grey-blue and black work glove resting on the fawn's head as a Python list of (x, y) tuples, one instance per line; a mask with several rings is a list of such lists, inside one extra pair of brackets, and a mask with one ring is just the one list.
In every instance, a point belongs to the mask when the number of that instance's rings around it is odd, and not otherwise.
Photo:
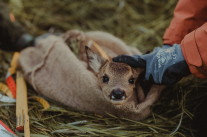
[(146, 68), (145, 79), (159, 85), (175, 84), (191, 74), (178, 44), (157, 47), (145, 55), (120, 55), (113, 58), (113, 61)]

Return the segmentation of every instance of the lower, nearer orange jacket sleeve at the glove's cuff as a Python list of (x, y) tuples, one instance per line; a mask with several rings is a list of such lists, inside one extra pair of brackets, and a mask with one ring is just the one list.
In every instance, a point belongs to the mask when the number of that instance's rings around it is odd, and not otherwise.
[(181, 42), (181, 49), (191, 73), (207, 78), (207, 23), (187, 34)]

